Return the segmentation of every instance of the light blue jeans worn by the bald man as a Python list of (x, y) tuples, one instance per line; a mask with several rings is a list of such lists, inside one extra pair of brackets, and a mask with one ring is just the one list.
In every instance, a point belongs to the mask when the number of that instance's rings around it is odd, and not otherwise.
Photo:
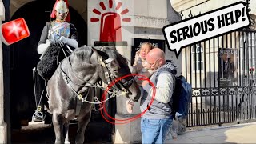
[(142, 144), (163, 143), (170, 130), (173, 118), (141, 120)]

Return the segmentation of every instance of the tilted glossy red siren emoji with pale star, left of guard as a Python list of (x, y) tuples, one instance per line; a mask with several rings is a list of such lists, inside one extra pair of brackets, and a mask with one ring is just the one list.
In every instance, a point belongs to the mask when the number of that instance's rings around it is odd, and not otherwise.
[(30, 36), (30, 31), (24, 18), (3, 23), (0, 28), (2, 42), (7, 46)]

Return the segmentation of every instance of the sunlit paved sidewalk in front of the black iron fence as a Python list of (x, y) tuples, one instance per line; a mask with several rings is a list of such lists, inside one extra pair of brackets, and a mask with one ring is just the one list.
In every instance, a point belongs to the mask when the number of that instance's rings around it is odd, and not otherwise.
[(187, 131), (166, 143), (256, 143), (256, 122)]

